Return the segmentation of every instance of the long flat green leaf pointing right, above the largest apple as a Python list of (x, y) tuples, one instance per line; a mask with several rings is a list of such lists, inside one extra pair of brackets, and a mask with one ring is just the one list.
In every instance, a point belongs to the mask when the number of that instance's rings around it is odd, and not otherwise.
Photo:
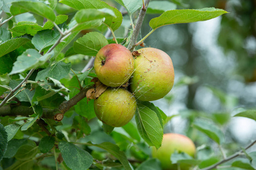
[(156, 29), (168, 24), (192, 23), (216, 18), (226, 14), (225, 10), (202, 8), (199, 10), (170, 10), (150, 20), (150, 27)]

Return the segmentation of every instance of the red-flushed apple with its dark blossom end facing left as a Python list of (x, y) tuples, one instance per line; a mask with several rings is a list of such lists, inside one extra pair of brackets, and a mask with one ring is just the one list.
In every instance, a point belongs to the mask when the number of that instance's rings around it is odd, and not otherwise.
[(133, 55), (120, 44), (105, 45), (96, 54), (94, 69), (98, 79), (106, 86), (122, 86), (133, 74)]

